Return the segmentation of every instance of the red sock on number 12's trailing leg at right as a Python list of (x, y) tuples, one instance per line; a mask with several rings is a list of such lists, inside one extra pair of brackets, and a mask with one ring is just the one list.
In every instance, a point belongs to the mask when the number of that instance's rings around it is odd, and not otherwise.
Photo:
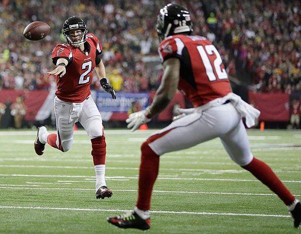
[(250, 171), (257, 179), (268, 186), (286, 205), (290, 205), (294, 201), (295, 197), (264, 162), (253, 158), (248, 165), (242, 166), (242, 168)]

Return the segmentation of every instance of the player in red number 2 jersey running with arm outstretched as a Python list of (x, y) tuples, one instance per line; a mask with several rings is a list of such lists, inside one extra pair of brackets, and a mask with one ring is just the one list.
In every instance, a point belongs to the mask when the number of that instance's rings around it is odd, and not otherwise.
[(86, 24), (78, 17), (68, 18), (63, 25), (65, 44), (56, 45), (52, 60), (56, 65), (48, 75), (56, 76), (54, 100), (57, 134), (49, 134), (45, 126), (38, 129), (35, 151), (42, 155), (45, 144), (67, 152), (73, 142), (74, 126), (80, 122), (90, 137), (96, 174), (96, 198), (111, 197), (105, 182), (106, 142), (101, 115), (91, 98), (90, 85), (95, 69), (102, 88), (116, 99), (107, 84), (105, 67), (100, 59), (102, 47), (97, 37), (87, 33)]

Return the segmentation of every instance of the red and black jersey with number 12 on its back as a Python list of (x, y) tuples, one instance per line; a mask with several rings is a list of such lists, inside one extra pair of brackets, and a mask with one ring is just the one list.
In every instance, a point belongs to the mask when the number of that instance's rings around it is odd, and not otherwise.
[(180, 59), (178, 89), (194, 107), (232, 92), (221, 56), (206, 38), (174, 35), (162, 41), (158, 51), (162, 63), (169, 58)]

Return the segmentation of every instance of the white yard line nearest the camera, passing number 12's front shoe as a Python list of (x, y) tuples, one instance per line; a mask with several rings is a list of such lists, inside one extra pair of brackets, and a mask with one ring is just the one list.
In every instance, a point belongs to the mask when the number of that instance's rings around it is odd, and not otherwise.
[[(26, 207), (26, 206), (0, 206), (0, 208), (11, 209), (52, 209), (52, 210), (76, 210), (76, 211), (104, 211), (104, 212), (127, 212), (131, 210), (123, 209), (84, 209), (84, 208), (64, 208), (64, 207)], [(251, 214), (251, 213), (214, 213), (214, 212), (189, 212), (189, 211), (163, 211), (152, 210), (152, 213), (173, 213), (173, 214), (199, 214), (199, 215), (234, 215), (234, 216), (263, 216), (263, 217), (291, 217), (290, 215), (279, 214)]]

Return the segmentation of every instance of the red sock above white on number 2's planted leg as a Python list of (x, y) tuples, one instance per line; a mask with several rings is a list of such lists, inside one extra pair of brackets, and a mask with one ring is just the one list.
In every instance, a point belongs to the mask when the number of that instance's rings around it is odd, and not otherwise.
[(91, 139), (92, 143), (92, 157), (94, 165), (105, 164), (105, 155), (106, 155), (106, 143), (105, 136), (99, 136), (94, 139)]

